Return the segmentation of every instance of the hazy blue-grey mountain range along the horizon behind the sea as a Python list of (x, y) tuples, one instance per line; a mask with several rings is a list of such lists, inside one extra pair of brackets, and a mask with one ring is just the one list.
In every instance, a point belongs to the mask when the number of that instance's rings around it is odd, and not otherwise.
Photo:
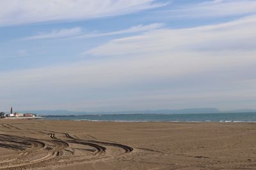
[(38, 115), (111, 115), (111, 114), (186, 114), (186, 113), (249, 113), (256, 110), (244, 109), (244, 110), (231, 110), (220, 111), (216, 108), (191, 108), (183, 110), (138, 110), (138, 111), (68, 111), (68, 110), (20, 110), (17, 112), (22, 113), (37, 113)]

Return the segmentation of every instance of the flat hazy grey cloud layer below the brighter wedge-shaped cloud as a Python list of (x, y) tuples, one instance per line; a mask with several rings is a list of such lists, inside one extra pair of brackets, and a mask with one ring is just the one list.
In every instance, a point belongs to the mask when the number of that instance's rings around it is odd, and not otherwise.
[(243, 108), (255, 99), (256, 78), (246, 77), (256, 71), (252, 54), (173, 53), (12, 71), (0, 74), (0, 92), (22, 109), (223, 108), (228, 101)]

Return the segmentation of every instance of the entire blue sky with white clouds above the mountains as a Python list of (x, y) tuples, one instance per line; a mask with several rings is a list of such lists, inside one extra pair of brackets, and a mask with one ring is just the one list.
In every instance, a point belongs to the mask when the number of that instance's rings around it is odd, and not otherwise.
[(0, 110), (256, 109), (255, 0), (0, 0)]

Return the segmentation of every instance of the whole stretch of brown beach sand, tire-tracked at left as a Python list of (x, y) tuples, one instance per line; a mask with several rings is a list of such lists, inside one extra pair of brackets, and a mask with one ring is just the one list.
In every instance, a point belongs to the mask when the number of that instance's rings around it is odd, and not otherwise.
[(0, 120), (0, 169), (256, 169), (256, 124)]

